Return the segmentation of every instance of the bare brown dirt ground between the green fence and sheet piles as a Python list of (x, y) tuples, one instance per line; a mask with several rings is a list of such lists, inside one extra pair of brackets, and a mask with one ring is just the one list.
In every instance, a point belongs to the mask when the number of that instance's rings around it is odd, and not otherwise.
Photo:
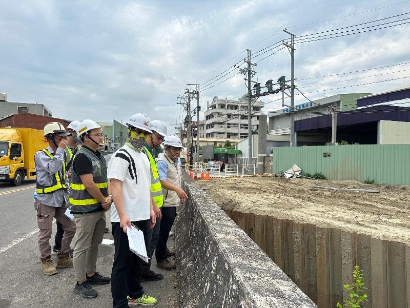
[[(410, 244), (410, 186), (281, 177), (211, 178), (197, 183), (224, 210), (271, 215)], [(319, 190), (312, 185), (380, 193)]]

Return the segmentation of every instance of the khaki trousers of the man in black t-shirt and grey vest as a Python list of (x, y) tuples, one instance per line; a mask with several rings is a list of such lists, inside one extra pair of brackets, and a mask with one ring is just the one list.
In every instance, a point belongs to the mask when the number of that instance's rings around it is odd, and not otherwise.
[(74, 275), (77, 281), (86, 280), (87, 273), (95, 273), (98, 245), (103, 241), (106, 214), (103, 211), (74, 214), (77, 241), (74, 247)]

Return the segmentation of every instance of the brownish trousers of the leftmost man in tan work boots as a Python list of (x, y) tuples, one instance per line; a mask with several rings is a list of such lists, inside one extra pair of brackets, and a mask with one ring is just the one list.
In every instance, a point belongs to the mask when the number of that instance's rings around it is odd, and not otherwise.
[(46, 258), (50, 256), (50, 237), (53, 231), (51, 224), (53, 218), (63, 225), (64, 235), (63, 240), (61, 240), (61, 252), (70, 252), (70, 244), (75, 234), (75, 222), (64, 214), (67, 207), (65, 205), (59, 208), (50, 207), (37, 201), (34, 204), (34, 209), (37, 212), (37, 225), (39, 229), (38, 248), (40, 250), (40, 257)]

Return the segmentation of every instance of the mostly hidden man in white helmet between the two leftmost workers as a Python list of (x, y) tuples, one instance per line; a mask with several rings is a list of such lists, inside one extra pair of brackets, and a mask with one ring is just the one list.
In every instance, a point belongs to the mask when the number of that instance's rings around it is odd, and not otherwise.
[[(71, 167), (73, 163), (73, 158), (74, 155), (77, 153), (77, 151), (81, 148), (81, 139), (77, 137), (77, 126), (79, 124), (79, 121), (72, 121), (68, 126), (67, 126), (67, 131), (71, 134), (71, 136), (67, 137), (68, 145), (65, 149), (66, 152), (66, 170), (68, 174), (68, 178), (71, 179)], [(55, 233), (55, 238), (54, 238), (54, 246), (51, 249), (51, 254), (56, 255), (59, 250), (61, 250), (61, 240), (63, 240), (63, 235), (64, 235), (64, 230), (63, 230), (63, 225), (57, 221), (56, 223), (57, 227), (57, 232)], [(73, 257), (73, 250), (71, 249), (70, 251), (70, 256)]]

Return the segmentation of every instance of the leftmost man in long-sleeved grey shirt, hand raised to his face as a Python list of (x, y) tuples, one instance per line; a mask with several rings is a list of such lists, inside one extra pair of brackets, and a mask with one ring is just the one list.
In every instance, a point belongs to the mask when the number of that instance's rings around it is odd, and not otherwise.
[[(38, 247), (41, 269), (45, 275), (57, 273), (57, 268), (72, 267), (70, 243), (76, 226), (64, 213), (68, 204), (68, 175), (65, 165), (64, 149), (70, 134), (58, 122), (51, 122), (44, 127), (44, 137), (49, 146), (38, 151), (34, 156), (36, 168), (37, 200), (35, 210), (38, 224)], [(51, 259), (50, 237), (52, 222), (55, 218), (63, 226), (65, 233), (58, 251), (57, 267)]]

